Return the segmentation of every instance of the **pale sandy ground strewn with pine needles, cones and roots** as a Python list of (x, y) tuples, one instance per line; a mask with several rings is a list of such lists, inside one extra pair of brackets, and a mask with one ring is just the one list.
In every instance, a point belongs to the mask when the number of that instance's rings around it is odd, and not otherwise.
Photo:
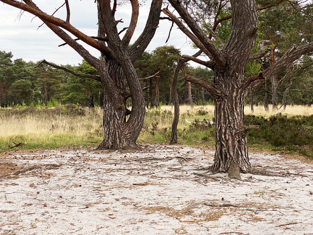
[(0, 234), (313, 234), (311, 163), (252, 153), (282, 176), (239, 181), (197, 170), (213, 151), (145, 147), (0, 155)]

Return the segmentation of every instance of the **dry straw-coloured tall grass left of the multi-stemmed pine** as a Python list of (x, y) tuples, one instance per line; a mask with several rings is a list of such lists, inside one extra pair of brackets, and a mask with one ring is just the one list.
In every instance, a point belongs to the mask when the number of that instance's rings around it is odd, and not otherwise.
[(1, 151), (19, 143), (23, 149), (98, 144), (103, 139), (102, 111), (66, 111), (62, 107), (2, 109), (0, 129)]

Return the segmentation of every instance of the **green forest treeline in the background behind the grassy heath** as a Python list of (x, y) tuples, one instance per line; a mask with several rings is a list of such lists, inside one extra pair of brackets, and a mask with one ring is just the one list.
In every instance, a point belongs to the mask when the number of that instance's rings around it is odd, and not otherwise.
[[(271, 47), (267, 49), (270, 51)], [(1, 107), (73, 103), (81, 107), (102, 107), (103, 86), (90, 78), (74, 76), (44, 63), (12, 60), (11, 52), (0, 51), (0, 101)], [(146, 107), (172, 104), (172, 78), (181, 52), (174, 46), (160, 46), (144, 52), (136, 60), (135, 68), (145, 94)], [(249, 63), (247, 73), (262, 71), (269, 61)], [(310, 57), (302, 57), (263, 86), (254, 90), (246, 103), (254, 106), (274, 104), (284, 108), (286, 104), (310, 106), (313, 103), (313, 65)], [(79, 65), (62, 65), (78, 73), (97, 75), (97, 70), (83, 60)], [(184, 74), (213, 83), (213, 71), (203, 67), (185, 65), (178, 78), (177, 90), (181, 104), (213, 103), (210, 94), (202, 87), (183, 79)], [(131, 99), (127, 104), (131, 105)], [(276, 105), (275, 105), (276, 104)]]

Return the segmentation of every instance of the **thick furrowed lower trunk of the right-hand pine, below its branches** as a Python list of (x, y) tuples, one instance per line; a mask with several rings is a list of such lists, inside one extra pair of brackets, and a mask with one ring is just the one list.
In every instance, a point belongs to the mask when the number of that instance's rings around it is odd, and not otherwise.
[(213, 172), (228, 172), (241, 179), (240, 173), (252, 170), (244, 126), (244, 90), (240, 84), (223, 84), (224, 96), (215, 98), (215, 158)]

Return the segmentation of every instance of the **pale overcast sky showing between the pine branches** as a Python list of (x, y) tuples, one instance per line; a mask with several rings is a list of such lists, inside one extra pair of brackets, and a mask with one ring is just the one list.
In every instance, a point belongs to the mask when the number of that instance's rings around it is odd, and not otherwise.
[[(46, 0), (34, 0), (39, 8), (48, 14), (52, 14), (56, 8), (59, 8), (64, 3), (64, 0), (46, 1)], [(97, 35), (97, 7), (94, 0), (69, 0), (71, 9), (71, 24), (89, 36)], [(136, 31), (132, 37), (134, 42), (141, 34), (146, 24), (146, 18), (148, 17), (150, 1), (147, 1), (144, 6), (140, 8), (140, 15)], [(14, 55), (13, 59), (23, 58), (25, 61), (36, 62), (38, 60), (48, 60), (56, 64), (70, 64), (77, 65), (82, 61), (80, 55), (78, 55), (68, 45), (58, 47), (59, 44), (64, 43), (58, 36), (43, 25), (38, 29), (38, 26), (42, 24), (42, 21), (38, 18), (33, 18), (33, 15), (24, 12), (19, 17), (20, 10), (11, 7), (7, 4), (1, 3), (0, 5), (0, 50), (9, 52)], [(58, 18), (66, 18), (65, 6), (54, 16)], [(161, 13), (161, 16), (165, 16)], [(119, 23), (118, 28), (122, 29), (129, 25), (129, 19), (131, 17), (131, 8), (129, 5), (119, 6), (115, 14), (115, 19), (123, 18), (124, 23)], [(147, 50), (154, 50), (158, 46), (165, 45), (165, 41), (168, 36), (171, 23), (167, 20), (161, 20), (159, 28), (156, 30), (156, 34), (152, 39)], [(38, 29), (38, 30), (37, 30)], [(89, 50), (92, 55), (96, 57), (100, 56), (100, 53), (83, 43), (85, 48)], [(190, 46), (190, 40), (186, 39), (186, 36), (181, 33), (177, 26), (174, 25), (171, 37), (167, 42), (167, 45), (174, 45), (181, 50), (182, 54), (193, 55), (196, 50)], [(193, 64), (195, 65), (195, 64)]]

